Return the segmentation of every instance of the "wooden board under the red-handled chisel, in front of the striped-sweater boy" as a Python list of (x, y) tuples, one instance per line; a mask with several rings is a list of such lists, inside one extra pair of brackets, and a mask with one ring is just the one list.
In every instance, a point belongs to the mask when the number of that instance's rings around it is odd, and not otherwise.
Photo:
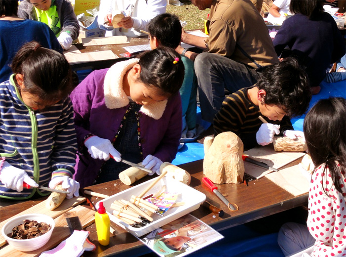
[[(272, 144), (252, 148), (245, 151), (244, 154), (248, 154), (253, 157), (253, 159), (275, 169), (280, 169), (305, 155), (303, 152), (275, 152)], [(245, 173), (256, 178), (260, 178), (272, 172), (249, 162), (244, 162), (244, 167)]]

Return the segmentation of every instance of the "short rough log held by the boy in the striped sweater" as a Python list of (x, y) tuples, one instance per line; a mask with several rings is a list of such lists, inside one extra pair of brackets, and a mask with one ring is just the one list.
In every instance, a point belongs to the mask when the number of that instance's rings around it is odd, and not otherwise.
[(291, 139), (287, 136), (274, 136), (273, 145), (277, 152), (304, 152), (307, 150), (306, 143), (301, 137)]

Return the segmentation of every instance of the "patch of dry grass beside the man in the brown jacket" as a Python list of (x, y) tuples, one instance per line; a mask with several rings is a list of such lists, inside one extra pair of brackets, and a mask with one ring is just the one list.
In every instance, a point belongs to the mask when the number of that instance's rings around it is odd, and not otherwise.
[(180, 2), (183, 5), (168, 4), (166, 12), (175, 14), (181, 21), (186, 21), (184, 30), (204, 29), (204, 20), (207, 19), (210, 9), (200, 11), (189, 0), (180, 0)]

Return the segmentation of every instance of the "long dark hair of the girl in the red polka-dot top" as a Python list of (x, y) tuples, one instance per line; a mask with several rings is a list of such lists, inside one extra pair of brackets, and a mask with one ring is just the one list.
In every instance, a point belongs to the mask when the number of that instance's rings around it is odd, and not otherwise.
[(318, 167), (325, 163), (335, 188), (343, 194), (338, 176), (341, 172), (345, 177), (346, 172), (346, 99), (319, 100), (306, 114), (303, 131), (313, 164)]

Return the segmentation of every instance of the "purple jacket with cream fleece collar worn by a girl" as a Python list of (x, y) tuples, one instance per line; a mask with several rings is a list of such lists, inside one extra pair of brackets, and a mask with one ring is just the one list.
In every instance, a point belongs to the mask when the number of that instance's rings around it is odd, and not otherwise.
[[(109, 69), (93, 71), (73, 90), (70, 97), (80, 147), (85, 147), (84, 137), (89, 133), (109, 140), (114, 138), (129, 107), (129, 99), (122, 89), (123, 77), (137, 62), (138, 59), (130, 59), (118, 62)], [(181, 136), (179, 92), (168, 101), (158, 102), (154, 114), (150, 112), (150, 107), (149, 110), (143, 108), (139, 111), (143, 158), (151, 154), (163, 162), (172, 162)], [(92, 185), (104, 161), (93, 159), (88, 153), (77, 156), (76, 161), (74, 178), (80, 182), (81, 188)]]

